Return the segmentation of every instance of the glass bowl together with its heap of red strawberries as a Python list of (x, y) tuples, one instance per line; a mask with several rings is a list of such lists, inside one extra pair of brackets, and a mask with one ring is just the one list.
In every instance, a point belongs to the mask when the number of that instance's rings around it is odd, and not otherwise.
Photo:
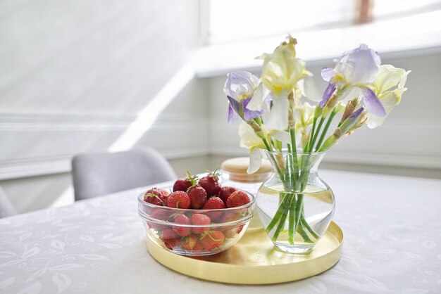
[(200, 179), (189, 173), (175, 181), (173, 192), (165, 198), (157, 193), (151, 196), (151, 191), (148, 196), (140, 194), (138, 212), (148, 238), (187, 256), (213, 255), (230, 248), (246, 231), (255, 198), (234, 187), (222, 193), (222, 188), (216, 172)]

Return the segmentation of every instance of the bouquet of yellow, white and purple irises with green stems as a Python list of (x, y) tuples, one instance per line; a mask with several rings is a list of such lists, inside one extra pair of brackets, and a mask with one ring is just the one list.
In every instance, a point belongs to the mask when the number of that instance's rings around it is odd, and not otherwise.
[[(321, 77), (328, 82), (323, 94), (297, 58), (297, 40), (287, 37), (273, 53), (264, 53), (261, 77), (250, 72), (228, 74), (224, 91), (229, 101), (228, 122), (240, 117), (240, 146), (250, 153), (248, 173), (261, 165), (263, 150), (287, 151), (290, 157), (270, 158), (286, 191), (302, 192), (309, 170), (315, 162), (311, 154), (328, 151), (343, 136), (364, 124), (375, 128), (383, 124), (406, 91), (410, 71), (381, 65), (380, 56), (366, 44), (344, 53), (335, 68), (323, 68)], [(334, 122), (334, 123), (333, 123)], [(330, 130), (334, 125), (335, 129)], [(302, 198), (280, 196), (278, 212), (266, 227), (273, 240), (286, 231), (291, 244), (294, 234), (304, 230), (314, 236), (304, 222)], [(287, 229), (285, 228), (287, 224)], [(299, 225), (299, 224), (305, 224)]]

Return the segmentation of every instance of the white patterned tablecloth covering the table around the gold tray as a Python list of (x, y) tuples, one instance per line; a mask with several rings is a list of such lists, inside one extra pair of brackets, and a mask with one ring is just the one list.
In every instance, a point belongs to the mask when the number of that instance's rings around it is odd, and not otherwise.
[(147, 251), (139, 188), (0, 219), (0, 293), (441, 293), (441, 180), (321, 177), (344, 244), (318, 276), (237, 286), (171, 271)]

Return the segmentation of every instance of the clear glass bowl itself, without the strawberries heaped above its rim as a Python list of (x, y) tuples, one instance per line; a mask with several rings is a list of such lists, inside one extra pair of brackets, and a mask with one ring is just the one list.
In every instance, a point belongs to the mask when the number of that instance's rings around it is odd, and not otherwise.
[[(142, 193), (138, 196), (138, 213), (147, 236), (156, 245), (179, 255), (213, 255), (237, 243), (247, 230), (256, 198), (251, 193), (244, 192), (249, 196), (250, 203), (220, 210), (154, 205), (145, 202)], [(192, 224), (192, 219), (206, 220), (206, 217), (210, 219), (209, 224)], [(190, 224), (185, 223), (189, 220)]]

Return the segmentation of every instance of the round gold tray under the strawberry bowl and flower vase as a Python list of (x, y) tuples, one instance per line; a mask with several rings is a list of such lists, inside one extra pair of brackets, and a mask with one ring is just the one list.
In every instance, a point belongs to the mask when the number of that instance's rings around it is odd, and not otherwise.
[[(251, 222), (252, 223), (252, 222)], [(331, 222), (325, 236), (308, 255), (275, 249), (263, 227), (249, 228), (228, 250), (206, 257), (170, 253), (147, 237), (147, 248), (164, 266), (198, 279), (235, 284), (271, 284), (297, 281), (333, 267), (342, 251), (343, 233)]]

